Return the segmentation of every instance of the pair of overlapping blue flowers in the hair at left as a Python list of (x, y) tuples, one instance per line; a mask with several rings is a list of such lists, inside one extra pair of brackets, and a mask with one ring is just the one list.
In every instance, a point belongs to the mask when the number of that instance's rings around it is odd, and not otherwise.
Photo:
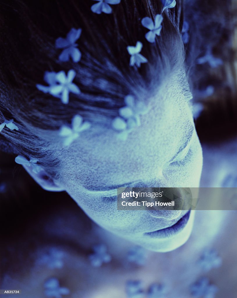
[(76, 72), (71, 69), (66, 76), (64, 71), (55, 73), (55, 72), (46, 72), (44, 80), (49, 86), (36, 85), (36, 87), (43, 91), (44, 93), (50, 93), (55, 97), (61, 99), (62, 103), (67, 104), (69, 102), (69, 93), (79, 94), (80, 89), (72, 83)]

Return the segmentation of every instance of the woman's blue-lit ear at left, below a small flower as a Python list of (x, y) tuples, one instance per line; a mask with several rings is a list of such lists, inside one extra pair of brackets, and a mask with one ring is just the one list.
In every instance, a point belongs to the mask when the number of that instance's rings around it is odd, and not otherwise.
[(61, 185), (57, 184), (49, 175), (42, 169), (39, 173), (32, 171), (32, 167), (23, 165), (24, 169), (30, 176), (44, 189), (48, 191), (63, 191)]

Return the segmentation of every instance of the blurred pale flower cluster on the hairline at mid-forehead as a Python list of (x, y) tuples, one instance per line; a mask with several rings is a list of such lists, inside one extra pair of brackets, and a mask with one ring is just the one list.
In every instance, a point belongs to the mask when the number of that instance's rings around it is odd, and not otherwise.
[(128, 134), (134, 127), (141, 125), (140, 116), (148, 112), (148, 108), (142, 102), (135, 103), (132, 95), (127, 95), (124, 99), (126, 106), (119, 109), (120, 117), (113, 119), (112, 126), (119, 132), (118, 138), (126, 140)]

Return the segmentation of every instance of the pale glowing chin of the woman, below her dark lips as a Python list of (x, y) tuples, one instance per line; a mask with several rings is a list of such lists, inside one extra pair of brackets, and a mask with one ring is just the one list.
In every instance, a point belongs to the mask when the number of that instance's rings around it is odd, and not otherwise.
[[(137, 244), (149, 249), (153, 252), (171, 252), (174, 249), (182, 246), (189, 238), (194, 222), (194, 210), (191, 210), (187, 224), (175, 235), (170, 235), (164, 238), (148, 238), (135, 241)], [(139, 243), (138, 243), (139, 242)]]

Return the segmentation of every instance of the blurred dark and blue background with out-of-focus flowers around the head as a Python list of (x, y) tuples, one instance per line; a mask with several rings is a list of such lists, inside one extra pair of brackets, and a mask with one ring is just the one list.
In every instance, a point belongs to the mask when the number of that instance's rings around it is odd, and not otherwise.
[[(186, 1), (183, 17), (200, 186), (237, 187), (237, 1)], [(97, 226), (66, 193), (42, 190), (14, 158), (0, 154), (1, 289), (23, 298), (236, 298), (236, 211), (197, 211), (185, 245), (149, 252)]]

